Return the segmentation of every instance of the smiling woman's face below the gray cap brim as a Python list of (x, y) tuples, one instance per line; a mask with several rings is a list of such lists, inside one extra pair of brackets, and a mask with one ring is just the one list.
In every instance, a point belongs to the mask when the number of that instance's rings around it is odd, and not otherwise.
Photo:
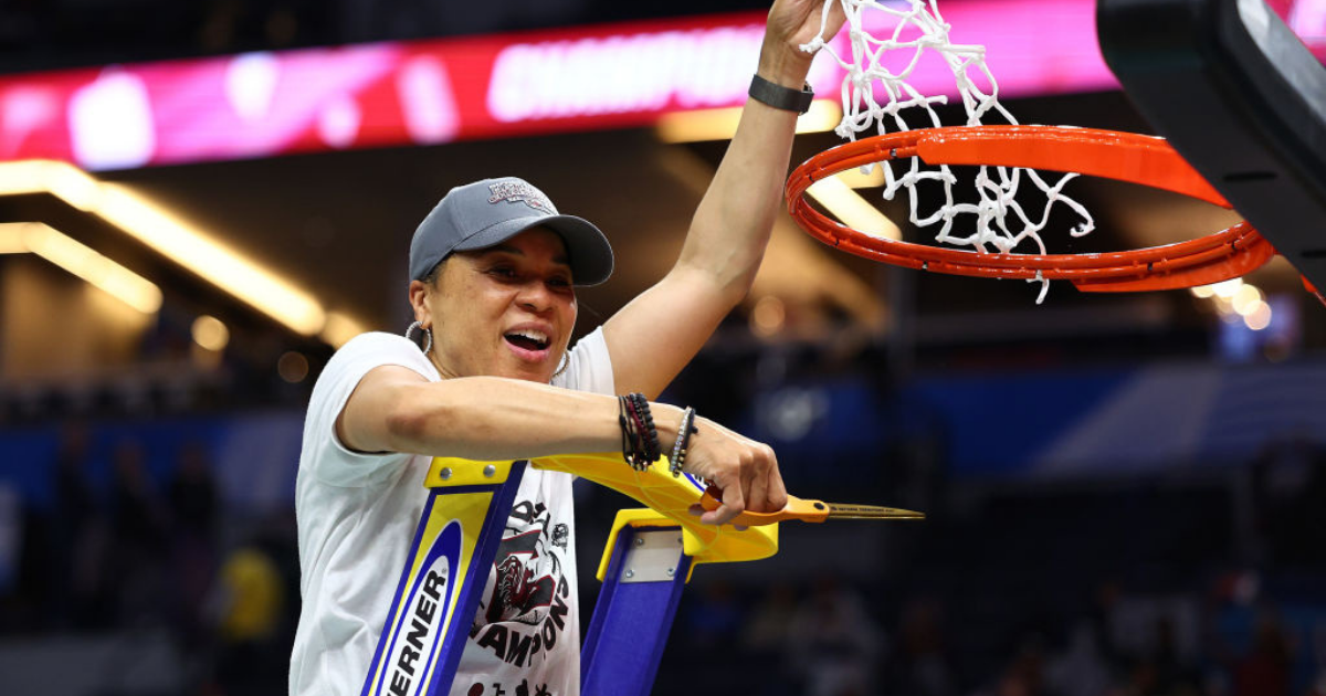
[(443, 377), (546, 383), (575, 326), (575, 290), (562, 239), (536, 227), (443, 262), (434, 288), (410, 284), (415, 318), (432, 329)]

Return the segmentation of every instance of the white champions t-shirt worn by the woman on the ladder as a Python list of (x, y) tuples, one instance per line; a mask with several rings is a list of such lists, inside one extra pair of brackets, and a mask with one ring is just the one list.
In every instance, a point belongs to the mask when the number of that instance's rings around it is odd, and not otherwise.
[[(351, 452), (335, 436), (335, 419), (350, 394), (382, 365), (440, 379), (410, 341), (369, 333), (333, 355), (309, 402), (294, 500), (304, 607), (290, 655), (292, 696), (363, 691), (428, 500), (423, 480), (432, 456)], [(577, 343), (553, 386), (614, 394), (602, 329)], [(579, 693), (573, 513), (569, 475), (525, 471), (452, 696)], [(411, 696), (420, 685), (411, 685)]]

